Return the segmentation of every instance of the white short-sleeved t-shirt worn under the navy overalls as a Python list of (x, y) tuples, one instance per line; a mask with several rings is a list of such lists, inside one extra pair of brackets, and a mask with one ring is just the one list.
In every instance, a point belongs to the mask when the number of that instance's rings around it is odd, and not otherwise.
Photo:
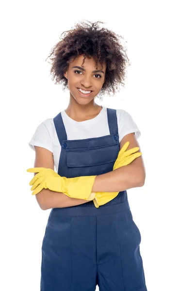
[[(67, 140), (86, 139), (100, 137), (110, 134), (107, 107), (102, 106), (102, 110), (92, 119), (85, 121), (75, 121), (70, 118), (65, 110), (61, 112), (62, 119), (65, 125)], [(141, 135), (140, 130), (133, 121), (131, 115), (123, 109), (116, 109), (119, 143), (122, 138), (131, 132), (135, 132), (136, 139)], [(58, 172), (59, 158), (61, 153), (61, 145), (54, 126), (53, 118), (44, 120), (35, 130), (29, 146), (34, 149), (34, 146), (40, 146), (48, 149), (53, 153), (54, 166)]]

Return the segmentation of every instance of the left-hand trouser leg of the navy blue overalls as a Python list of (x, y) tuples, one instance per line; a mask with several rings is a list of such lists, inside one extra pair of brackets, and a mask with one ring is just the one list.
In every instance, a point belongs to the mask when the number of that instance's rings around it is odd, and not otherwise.
[(96, 217), (53, 216), (42, 245), (41, 291), (95, 291), (96, 275)]

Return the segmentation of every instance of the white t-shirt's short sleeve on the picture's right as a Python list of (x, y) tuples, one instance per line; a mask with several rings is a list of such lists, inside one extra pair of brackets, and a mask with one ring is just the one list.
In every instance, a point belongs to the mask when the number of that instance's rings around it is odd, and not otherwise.
[(140, 135), (141, 135), (141, 131), (139, 130), (139, 128), (137, 127), (136, 123), (134, 122), (133, 118), (131, 117), (131, 115), (125, 111), (120, 109), (118, 112), (118, 121), (119, 121), (119, 142), (121, 142), (121, 140), (123, 139), (123, 137), (126, 134), (135, 132), (135, 137), (138, 140)]

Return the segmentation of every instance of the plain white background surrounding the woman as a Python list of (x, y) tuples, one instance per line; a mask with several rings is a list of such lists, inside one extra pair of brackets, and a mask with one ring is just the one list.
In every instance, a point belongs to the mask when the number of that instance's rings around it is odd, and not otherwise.
[[(41, 244), (50, 210), (29, 182), (37, 126), (68, 105), (45, 62), (62, 32), (83, 19), (127, 41), (125, 87), (97, 104), (128, 111), (142, 135), (143, 187), (128, 190), (140, 229), (148, 291), (194, 288), (192, 1), (9, 1), (0, 17), (0, 290), (39, 291)], [(98, 291), (98, 287), (97, 287)]]

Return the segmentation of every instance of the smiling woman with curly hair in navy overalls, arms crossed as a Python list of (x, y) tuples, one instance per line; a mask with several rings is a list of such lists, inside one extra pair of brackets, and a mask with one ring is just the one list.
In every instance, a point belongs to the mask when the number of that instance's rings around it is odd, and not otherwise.
[(147, 291), (126, 191), (144, 185), (141, 132), (125, 110), (95, 102), (124, 84), (129, 60), (119, 36), (98, 23), (81, 22), (52, 50), (51, 74), (69, 90), (69, 104), (29, 143), (36, 154), (32, 190), (41, 209), (51, 209), (41, 291)]

